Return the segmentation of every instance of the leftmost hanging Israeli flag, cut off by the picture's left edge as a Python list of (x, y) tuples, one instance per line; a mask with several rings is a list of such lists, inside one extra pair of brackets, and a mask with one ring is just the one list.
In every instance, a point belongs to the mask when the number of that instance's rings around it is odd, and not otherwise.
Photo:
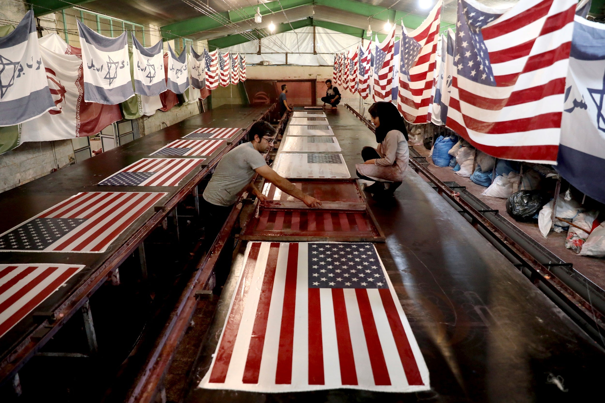
[(12, 126), (54, 109), (32, 10), (0, 37), (0, 126)]

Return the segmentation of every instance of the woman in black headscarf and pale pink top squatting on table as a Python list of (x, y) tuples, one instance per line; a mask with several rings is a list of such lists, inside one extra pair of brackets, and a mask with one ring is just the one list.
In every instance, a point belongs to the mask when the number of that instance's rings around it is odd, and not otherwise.
[(370, 109), (371, 121), (376, 126), (378, 147), (361, 150), (363, 164), (356, 164), (357, 176), (374, 181), (365, 191), (374, 195), (393, 195), (405, 178), (410, 152), (408, 132), (397, 107), (390, 102), (376, 102)]

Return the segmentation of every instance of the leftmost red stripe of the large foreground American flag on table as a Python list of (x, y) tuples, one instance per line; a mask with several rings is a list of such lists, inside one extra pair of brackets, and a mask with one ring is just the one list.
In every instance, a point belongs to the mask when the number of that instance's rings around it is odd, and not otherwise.
[(221, 338), (221, 344), (218, 347), (217, 358), (214, 360), (214, 366), (212, 367), (212, 373), (210, 374), (210, 382), (212, 383), (223, 383), (227, 377), (227, 370), (229, 369), (229, 363), (231, 362), (231, 355), (233, 354), (237, 333), (240, 330), (241, 316), (244, 313), (246, 297), (248, 295), (248, 289), (250, 288), (250, 281), (252, 280), (254, 268), (257, 265), (258, 251), (260, 248), (260, 242), (254, 242), (252, 243), (252, 247), (250, 247), (246, 266), (241, 274), (242, 278), (240, 280), (240, 285), (237, 287), (233, 305), (231, 306), (229, 317), (227, 318), (227, 324), (225, 324), (223, 330), (223, 338)]

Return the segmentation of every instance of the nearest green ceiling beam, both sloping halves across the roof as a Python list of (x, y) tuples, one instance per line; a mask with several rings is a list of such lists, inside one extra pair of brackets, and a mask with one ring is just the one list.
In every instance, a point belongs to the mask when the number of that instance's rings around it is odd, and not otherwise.
[[(399, 22), (401, 19), (404, 21), (404, 25), (407, 28), (415, 29), (422, 24), (422, 21), (426, 16), (419, 16), (414, 14), (405, 13), (405, 11), (386, 10), (384, 7), (378, 5), (371, 5), (359, 1), (353, 0), (280, 0), (271, 1), (260, 6), (261, 15), (269, 15), (271, 12), (281, 12), (281, 6), (284, 10), (291, 8), (302, 7), (303, 5), (317, 4), (324, 5), (325, 7), (333, 8), (335, 15), (339, 10), (348, 11), (362, 16), (369, 17), (373, 15), (374, 20), (379, 21), (390, 21)], [(265, 7), (267, 6), (267, 7)], [(267, 10), (269, 8), (271, 11)], [(241, 22), (246, 19), (252, 19), (256, 12), (256, 7), (244, 7), (238, 9), (238, 12), (228, 11), (220, 13), (224, 19), (229, 19), (231, 22)], [(250, 16), (250, 18), (247, 18)], [(212, 30), (214, 28), (222, 27), (223, 24), (218, 23), (214, 19), (208, 16), (199, 16), (185, 21), (175, 22), (161, 27), (162, 37), (164, 40), (174, 39), (178, 36), (191, 36), (200, 31)]]

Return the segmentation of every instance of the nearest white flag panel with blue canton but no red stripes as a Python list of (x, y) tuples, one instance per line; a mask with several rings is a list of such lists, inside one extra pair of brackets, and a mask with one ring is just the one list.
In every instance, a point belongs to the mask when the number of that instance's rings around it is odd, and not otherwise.
[(341, 154), (280, 153), (275, 172), (284, 178), (350, 178)]

